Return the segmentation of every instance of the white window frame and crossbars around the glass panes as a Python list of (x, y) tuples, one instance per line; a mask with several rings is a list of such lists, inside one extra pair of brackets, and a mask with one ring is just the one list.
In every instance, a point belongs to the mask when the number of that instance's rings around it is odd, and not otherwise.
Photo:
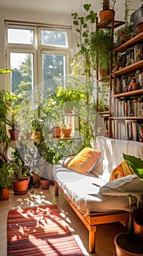
[[(7, 29), (32, 29), (34, 30), (34, 45), (15, 44), (7, 42)], [(57, 47), (51, 45), (41, 45), (41, 30), (65, 31), (67, 34), (67, 47)], [(69, 63), (71, 61), (71, 27), (58, 28), (52, 25), (39, 25), (31, 23), (16, 23), (7, 21), (5, 23), (5, 56), (7, 68), (10, 68), (10, 53), (33, 53), (34, 54), (34, 87), (42, 83), (42, 54), (65, 54), (66, 55), (66, 75), (69, 75)], [(10, 78), (7, 76), (7, 90), (10, 88)]]

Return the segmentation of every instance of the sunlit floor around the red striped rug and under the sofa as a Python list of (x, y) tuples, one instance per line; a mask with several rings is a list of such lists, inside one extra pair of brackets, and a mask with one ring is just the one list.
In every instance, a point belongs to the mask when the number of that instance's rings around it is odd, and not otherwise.
[[(28, 190), (26, 195), (13, 195), (10, 192), (9, 199), (0, 201), (0, 255), (7, 256), (7, 213), (12, 208), (26, 208), (46, 204), (57, 204), (62, 217), (77, 243), (80, 245), (85, 256), (91, 255), (88, 252), (88, 230), (82, 224), (80, 219), (71, 209), (69, 204), (59, 192), (59, 196), (54, 195), (54, 186), (50, 185), (50, 189), (35, 189)], [(113, 256), (115, 252), (114, 237), (117, 233), (127, 230), (120, 223), (112, 223), (107, 225), (99, 225), (96, 232), (96, 253), (93, 256)], [(16, 255), (15, 255), (16, 256)]]

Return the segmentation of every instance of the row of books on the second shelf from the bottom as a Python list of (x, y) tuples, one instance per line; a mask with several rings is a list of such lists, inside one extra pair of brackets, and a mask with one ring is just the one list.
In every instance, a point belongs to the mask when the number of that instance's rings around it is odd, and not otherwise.
[(115, 99), (113, 116), (143, 116), (143, 102), (134, 99)]

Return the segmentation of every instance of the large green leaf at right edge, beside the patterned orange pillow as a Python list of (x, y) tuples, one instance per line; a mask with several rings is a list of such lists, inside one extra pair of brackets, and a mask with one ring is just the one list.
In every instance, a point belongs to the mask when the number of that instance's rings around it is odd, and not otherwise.
[(123, 159), (125, 159), (126, 162), (128, 162), (129, 167), (131, 167), (131, 170), (140, 178), (143, 180), (143, 161), (142, 159), (134, 156), (130, 156), (127, 154), (123, 154)]

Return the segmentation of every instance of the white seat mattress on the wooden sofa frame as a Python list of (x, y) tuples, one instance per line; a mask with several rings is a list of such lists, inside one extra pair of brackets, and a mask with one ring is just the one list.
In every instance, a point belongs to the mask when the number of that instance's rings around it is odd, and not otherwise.
[[(128, 198), (125, 195), (103, 197), (101, 193), (99, 194), (101, 187), (106, 186), (106, 182), (93, 176), (92, 173), (85, 176), (61, 165), (55, 165), (53, 176), (66, 196), (83, 215), (91, 211), (129, 211)], [(135, 197), (132, 203), (136, 203)], [(134, 208), (136, 208), (135, 205)]]

